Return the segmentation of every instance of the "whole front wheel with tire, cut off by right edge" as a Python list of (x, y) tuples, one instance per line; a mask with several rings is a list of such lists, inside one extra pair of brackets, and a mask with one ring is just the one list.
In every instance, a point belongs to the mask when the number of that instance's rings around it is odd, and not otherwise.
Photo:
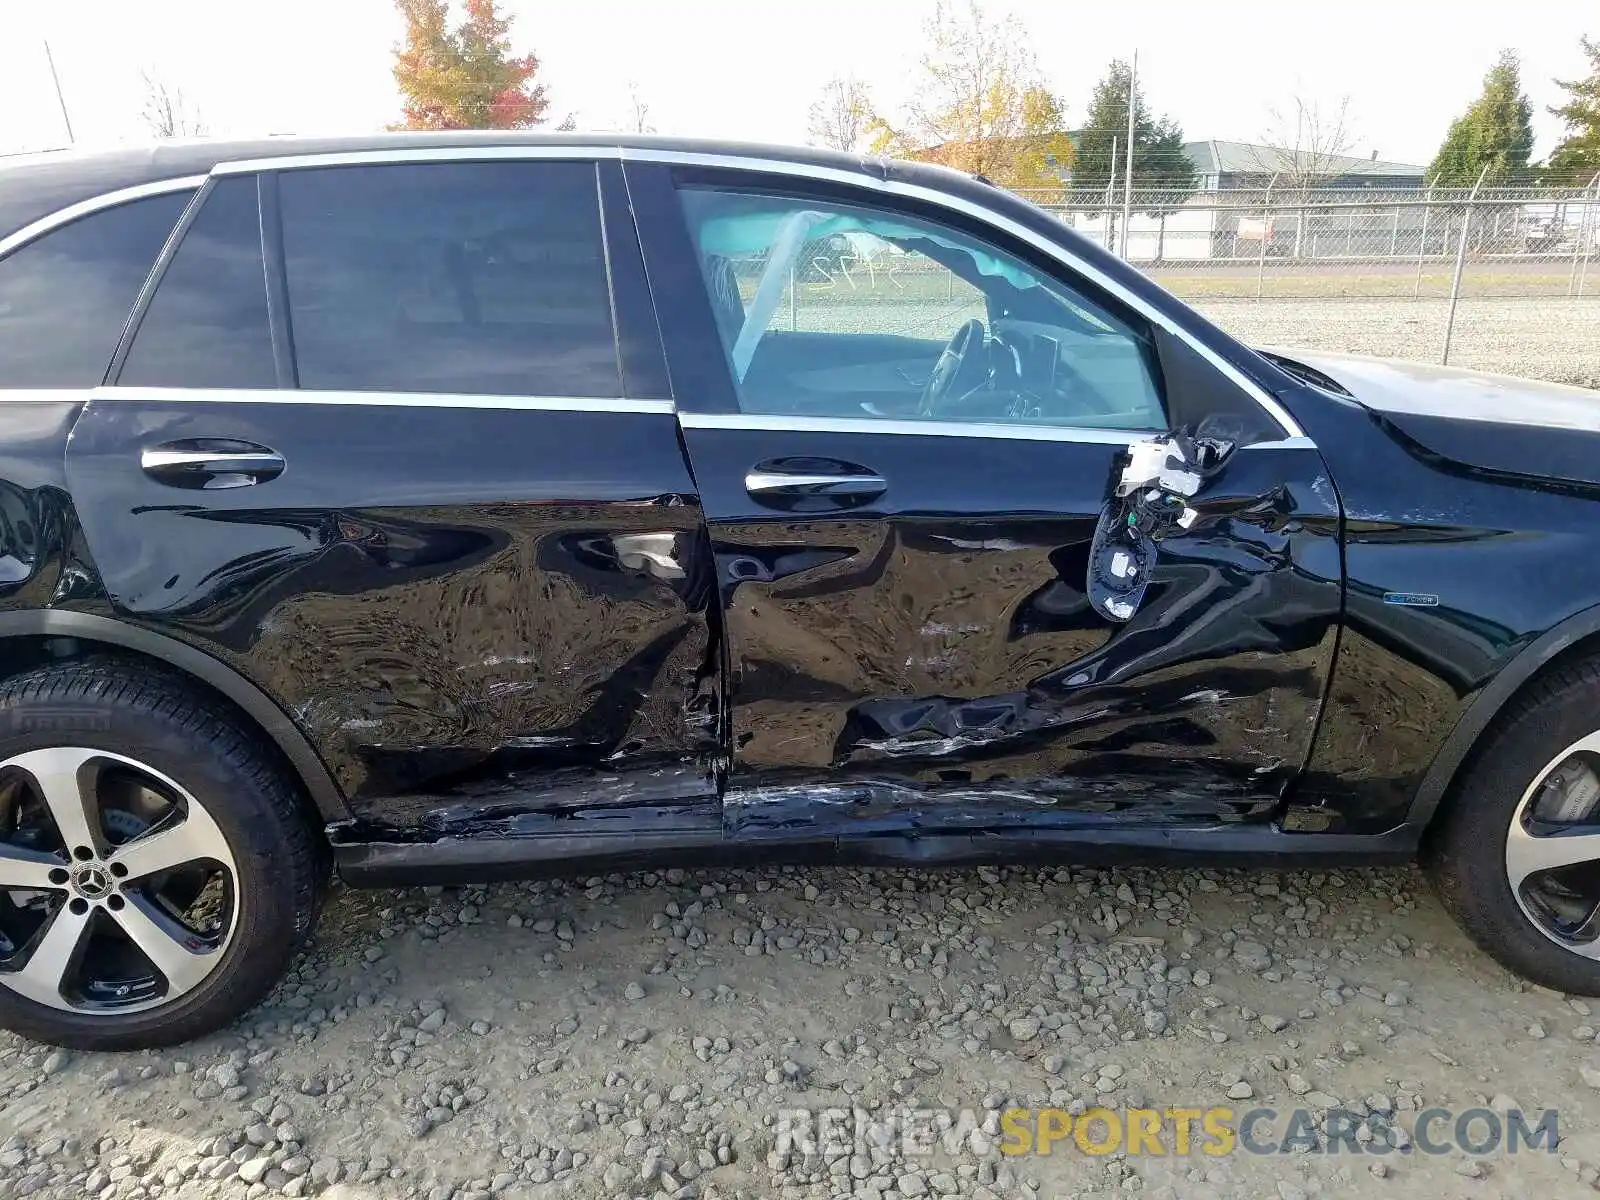
[(1450, 914), (1536, 984), (1600, 995), (1600, 661), (1496, 720), (1424, 843)]

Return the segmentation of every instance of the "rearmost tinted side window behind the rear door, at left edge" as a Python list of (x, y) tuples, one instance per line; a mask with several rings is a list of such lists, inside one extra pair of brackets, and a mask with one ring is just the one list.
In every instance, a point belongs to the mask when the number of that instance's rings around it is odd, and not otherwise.
[(78, 218), (0, 259), (0, 389), (94, 387), (192, 190)]

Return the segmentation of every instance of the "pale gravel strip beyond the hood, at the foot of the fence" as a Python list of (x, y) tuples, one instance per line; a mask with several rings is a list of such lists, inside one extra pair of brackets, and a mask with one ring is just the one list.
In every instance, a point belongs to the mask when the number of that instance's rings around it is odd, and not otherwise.
[[(1378, 354), (1437, 363), (1448, 301), (1198, 299), (1194, 306), (1253, 346)], [(1600, 298), (1464, 299), (1451, 366), (1600, 387)]]

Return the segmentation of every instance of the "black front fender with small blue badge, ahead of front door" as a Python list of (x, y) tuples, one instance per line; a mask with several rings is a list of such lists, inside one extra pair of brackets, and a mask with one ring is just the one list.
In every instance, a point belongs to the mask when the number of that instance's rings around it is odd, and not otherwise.
[[(1346, 514), (1339, 658), (1293, 800), (1330, 830), (1419, 832), (1443, 792), (1434, 766), (1453, 731), (1470, 741), (1488, 723), (1477, 699), (1509, 699), (1514, 688), (1490, 691), (1496, 678), (1512, 667), (1528, 678), (1534, 664), (1517, 664), (1536, 643), (1536, 662), (1570, 645), (1555, 630), (1592, 632), (1600, 490), (1443, 459), (1354, 398), (1309, 387), (1283, 398), (1322, 448)], [(1459, 424), (1493, 440), (1549, 437)], [(1467, 749), (1451, 750), (1451, 766)]]

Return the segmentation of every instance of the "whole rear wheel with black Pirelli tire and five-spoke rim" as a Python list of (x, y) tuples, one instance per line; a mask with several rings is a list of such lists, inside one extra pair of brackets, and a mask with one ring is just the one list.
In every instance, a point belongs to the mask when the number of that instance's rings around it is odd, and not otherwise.
[(221, 1029), (309, 934), (325, 854), (277, 757), (115, 661), (0, 682), (0, 1027), (78, 1050)]

